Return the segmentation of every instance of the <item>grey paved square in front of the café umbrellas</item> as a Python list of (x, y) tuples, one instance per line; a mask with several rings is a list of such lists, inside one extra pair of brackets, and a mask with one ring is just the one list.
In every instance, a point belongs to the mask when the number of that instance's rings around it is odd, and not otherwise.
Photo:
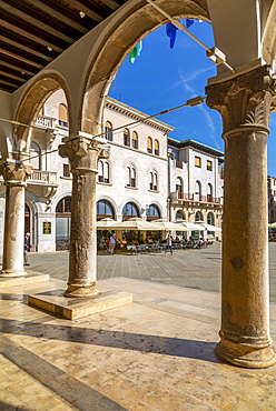
[[(68, 251), (31, 253), (30, 269), (68, 279)], [(181, 285), (205, 291), (220, 291), (221, 243), (201, 250), (179, 250), (174, 255), (98, 254), (98, 280), (126, 277)], [(269, 243), (270, 301), (276, 302), (276, 243)]]

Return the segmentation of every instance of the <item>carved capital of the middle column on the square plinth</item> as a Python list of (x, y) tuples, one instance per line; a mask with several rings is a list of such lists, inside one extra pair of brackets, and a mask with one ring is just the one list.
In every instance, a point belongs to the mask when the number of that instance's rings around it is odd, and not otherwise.
[(109, 148), (96, 139), (77, 136), (69, 138), (59, 146), (59, 154), (68, 158), (71, 172), (98, 172), (98, 160), (109, 158)]

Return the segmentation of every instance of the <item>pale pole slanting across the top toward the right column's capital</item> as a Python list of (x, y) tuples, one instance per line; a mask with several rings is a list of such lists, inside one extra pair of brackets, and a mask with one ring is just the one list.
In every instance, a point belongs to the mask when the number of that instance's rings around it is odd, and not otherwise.
[(159, 6), (157, 6), (152, 0), (147, 0), (147, 2), (149, 4), (151, 4), (156, 10), (160, 11), (160, 13), (162, 16), (165, 16), (170, 22), (171, 24), (174, 24), (177, 29), (184, 31), (186, 34), (188, 34), (193, 40), (195, 40), (199, 46), (201, 46), (206, 51), (207, 51), (207, 57), (208, 59), (210, 59), (213, 62), (215, 62), (215, 64), (224, 64), (225, 67), (227, 67), (228, 70), (230, 70), (233, 73), (235, 72), (235, 70), (233, 69), (233, 67), (230, 67), (227, 61), (226, 61), (226, 57), (225, 54), (223, 53), (221, 50), (219, 50), (218, 48), (214, 47), (211, 49), (209, 49), (207, 46), (205, 46), (199, 39), (197, 39), (194, 34), (191, 34), (185, 27), (183, 23), (180, 23), (180, 21), (178, 20), (175, 20), (171, 16), (169, 16), (165, 10), (162, 10)]

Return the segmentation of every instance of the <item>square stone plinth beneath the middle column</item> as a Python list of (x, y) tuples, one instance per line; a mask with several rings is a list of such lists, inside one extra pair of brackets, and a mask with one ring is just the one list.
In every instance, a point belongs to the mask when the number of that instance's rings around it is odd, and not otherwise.
[(68, 298), (65, 290), (46, 291), (28, 295), (28, 303), (55, 315), (76, 320), (101, 311), (132, 302), (132, 294), (118, 291), (103, 291), (96, 298)]

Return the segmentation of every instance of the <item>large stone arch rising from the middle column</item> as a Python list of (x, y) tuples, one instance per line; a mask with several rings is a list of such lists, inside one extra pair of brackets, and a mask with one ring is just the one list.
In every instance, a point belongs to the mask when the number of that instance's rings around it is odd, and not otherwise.
[[(171, 17), (179, 19), (196, 17), (209, 20), (205, 0), (156, 1)], [(80, 108), (81, 131), (97, 134), (101, 128), (105, 96), (112, 77), (131, 49), (155, 28), (168, 20), (152, 6), (141, 0), (130, 1), (119, 10), (117, 19), (107, 24), (90, 53), (86, 67), (82, 107)]]

